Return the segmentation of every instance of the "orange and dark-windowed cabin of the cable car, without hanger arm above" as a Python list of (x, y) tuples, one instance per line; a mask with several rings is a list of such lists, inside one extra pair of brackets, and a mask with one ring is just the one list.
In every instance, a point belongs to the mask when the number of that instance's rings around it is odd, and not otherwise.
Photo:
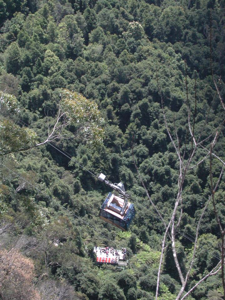
[[(127, 202), (126, 204), (126, 207), (123, 208), (124, 199), (113, 193), (109, 193), (100, 208), (100, 219), (120, 228), (123, 231), (128, 230), (135, 216), (135, 210), (133, 204), (130, 202)], [(121, 211), (123, 213), (121, 213)]]

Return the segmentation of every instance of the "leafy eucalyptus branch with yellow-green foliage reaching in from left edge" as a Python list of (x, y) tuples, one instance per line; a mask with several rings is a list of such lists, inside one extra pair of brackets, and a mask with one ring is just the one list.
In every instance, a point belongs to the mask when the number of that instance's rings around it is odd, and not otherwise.
[[(56, 118), (52, 120), (52, 117), (47, 116), (48, 132), (44, 141), (39, 141), (37, 134), (32, 129), (17, 125), (9, 114), (7, 117), (3, 117), (0, 121), (0, 154), (28, 150), (46, 143), (71, 138), (72, 134), (63, 133), (63, 130), (70, 125), (76, 128), (75, 136), (77, 138), (83, 138), (89, 143), (101, 143), (104, 137), (102, 127), (104, 120), (97, 104), (81, 94), (66, 89), (61, 89), (59, 96)], [(18, 115), (20, 110), (16, 97), (1, 92), (0, 110), (3, 115), (6, 113)]]

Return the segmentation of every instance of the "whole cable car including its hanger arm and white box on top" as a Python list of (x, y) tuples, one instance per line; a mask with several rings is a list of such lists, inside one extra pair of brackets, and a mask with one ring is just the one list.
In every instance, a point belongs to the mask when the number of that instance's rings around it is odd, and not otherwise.
[[(103, 202), (99, 217), (100, 219), (108, 222), (123, 231), (128, 230), (133, 218), (135, 217), (134, 205), (128, 202), (128, 195), (125, 192), (123, 183), (111, 183), (105, 179), (104, 174), (100, 174), (98, 179), (110, 187), (112, 187), (116, 192), (108, 193), (107, 198)], [(119, 195), (117, 194), (119, 192)]]

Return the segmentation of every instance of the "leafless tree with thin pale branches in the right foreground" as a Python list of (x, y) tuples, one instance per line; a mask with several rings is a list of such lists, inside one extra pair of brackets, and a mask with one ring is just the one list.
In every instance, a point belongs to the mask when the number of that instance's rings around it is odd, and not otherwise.
[[(186, 67), (186, 64), (185, 64), (185, 67)], [(187, 72), (185, 72), (185, 73), (187, 73)], [(158, 83), (158, 74), (157, 74), (157, 83)], [(224, 251), (225, 251), (225, 247), (224, 247), (225, 228), (222, 229), (222, 227), (221, 227), (221, 238), (222, 238), (222, 247), (221, 247), (222, 257), (221, 257), (221, 260), (218, 262), (218, 264), (215, 267), (212, 268), (212, 270), (210, 272), (208, 272), (201, 280), (199, 280), (190, 290), (188, 290), (184, 294), (185, 288), (187, 287), (188, 279), (190, 277), (190, 272), (191, 272), (191, 269), (192, 269), (192, 266), (193, 266), (193, 263), (194, 263), (194, 259), (195, 259), (195, 256), (196, 256), (197, 241), (198, 241), (199, 228), (200, 228), (200, 225), (201, 225), (201, 221), (202, 221), (202, 218), (204, 216), (204, 213), (207, 209), (207, 206), (208, 206), (209, 202), (214, 199), (214, 194), (215, 194), (216, 190), (219, 187), (219, 183), (221, 181), (224, 166), (225, 166), (225, 162), (220, 157), (218, 157), (216, 155), (216, 153), (213, 153), (213, 147), (217, 143), (217, 140), (218, 140), (219, 134), (221, 132), (221, 128), (222, 128), (222, 125), (224, 123), (224, 120), (222, 120), (222, 122), (221, 122), (220, 126), (217, 128), (217, 130), (215, 132), (209, 134), (207, 136), (207, 138), (201, 139), (203, 128), (202, 128), (199, 136), (195, 137), (195, 117), (196, 117), (196, 111), (197, 111), (197, 109), (196, 109), (197, 108), (196, 78), (195, 78), (195, 108), (194, 108), (194, 113), (193, 113), (193, 122), (192, 122), (192, 124), (191, 124), (191, 114), (192, 113), (191, 113), (190, 103), (189, 103), (189, 99), (188, 99), (187, 75), (186, 74), (185, 74), (185, 83), (186, 83), (186, 97), (187, 97), (187, 99), (186, 99), (186, 101), (187, 101), (187, 125), (188, 125), (188, 132), (189, 132), (190, 137), (191, 137), (191, 151), (190, 151), (187, 159), (184, 159), (185, 155), (187, 154), (186, 153), (186, 151), (187, 151), (186, 150), (186, 144), (185, 144), (185, 149), (184, 149), (183, 155), (182, 155), (181, 150), (180, 150), (180, 146), (179, 146), (180, 141), (179, 141), (176, 126), (175, 126), (175, 121), (174, 121), (174, 130), (175, 130), (176, 140), (173, 138), (173, 136), (170, 132), (168, 122), (167, 122), (167, 118), (166, 118), (165, 109), (164, 109), (163, 96), (162, 96), (161, 89), (160, 89), (160, 86), (159, 86), (159, 83), (158, 83), (158, 90), (159, 90), (159, 95), (160, 95), (160, 98), (161, 98), (165, 128), (167, 130), (170, 141), (173, 144), (173, 147), (174, 147), (176, 155), (177, 155), (177, 159), (179, 161), (179, 171), (178, 171), (179, 176), (178, 176), (178, 183), (177, 183), (178, 184), (178, 193), (177, 193), (177, 197), (176, 197), (176, 200), (175, 200), (175, 203), (174, 203), (173, 212), (172, 212), (172, 215), (169, 219), (168, 224), (166, 224), (166, 222), (165, 222), (164, 218), (162, 217), (160, 211), (158, 210), (157, 206), (153, 203), (151, 197), (149, 196), (148, 191), (145, 187), (145, 184), (144, 184), (144, 182), (141, 178), (141, 175), (138, 171), (138, 167), (135, 163), (135, 160), (133, 159), (134, 164), (135, 164), (135, 168), (137, 169), (137, 172), (138, 172), (139, 179), (140, 179), (140, 181), (141, 181), (141, 183), (142, 183), (142, 185), (145, 189), (147, 197), (148, 197), (150, 203), (153, 205), (155, 211), (157, 212), (158, 216), (162, 220), (162, 222), (164, 224), (164, 227), (165, 227), (164, 236), (163, 236), (163, 240), (162, 240), (162, 250), (161, 250), (161, 256), (160, 256), (159, 268), (158, 268), (157, 288), (156, 288), (156, 296), (155, 296), (156, 300), (158, 299), (160, 274), (161, 274), (161, 268), (162, 268), (162, 264), (163, 264), (164, 249), (165, 249), (167, 237), (169, 238), (169, 240), (172, 243), (174, 263), (176, 265), (178, 275), (179, 275), (179, 278), (180, 278), (180, 282), (181, 282), (181, 285), (182, 285), (180, 291), (178, 292), (176, 300), (185, 299), (201, 282), (206, 280), (209, 276), (217, 274), (223, 268), (223, 264), (224, 264), (223, 256), (224, 256)], [(223, 101), (221, 100), (222, 97), (221, 96), (219, 96), (219, 97), (220, 97), (221, 103), (223, 104)], [(211, 143), (210, 143), (210, 140), (212, 141)], [(202, 145), (206, 141), (208, 141), (208, 146), (210, 146), (210, 150), (208, 150), (206, 147), (204, 147)], [(195, 158), (196, 151), (200, 147), (203, 148), (207, 153), (206, 153), (205, 157), (203, 157), (197, 163), (194, 163), (194, 166), (192, 166), (191, 163), (193, 162), (193, 160)], [(219, 176), (215, 186), (213, 186), (213, 184), (211, 182), (211, 194), (209, 195), (209, 198), (208, 198), (207, 202), (205, 203), (205, 206), (202, 209), (202, 214), (199, 217), (197, 227), (196, 227), (196, 234), (195, 234), (195, 239), (194, 239), (192, 257), (191, 257), (191, 260), (189, 262), (189, 266), (186, 269), (185, 274), (184, 274), (182, 272), (181, 265), (180, 265), (180, 262), (179, 262), (178, 256), (177, 256), (177, 250), (176, 250), (176, 247), (175, 247), (176, 232), (177, 232), (177, 229), (180, 225), (180, 222), (181, 222), (181, 219), (182, 219), (182, 216), (183, 216), (183, 207), (182, 207), (183, 184), (184, 184), (184, 180), (186, 178), (187, 172), (190, 169), (193, 169), (193, 168), (197, 167), (199, 164), (201, 164), (203, 161), (205, 161), (206, 158), (209, 157), (209, 156), (210, 156), (211, 161), (212, 161), (212, 156), (217, 158), (223, 164), (223, 167), (221, 169), (220, 176)], [(215, 209), (216, 209), (216, 206), (215, 206)], [(178, 221), (177, 221), (177, 216), (178, 215), (179, 215), (179, 218), (178, 218)], [(217, 222), (219, 224), (219, 220), (217, 220)], [(222, 275), (222, 277), (224, 277), (224, 275)], [(222, 279), (222, 281), (223, 281), (223, 286), (225, 287), (224, 279)], [(224, 296), (225, 296), (225, 288), (224, 288)]]

